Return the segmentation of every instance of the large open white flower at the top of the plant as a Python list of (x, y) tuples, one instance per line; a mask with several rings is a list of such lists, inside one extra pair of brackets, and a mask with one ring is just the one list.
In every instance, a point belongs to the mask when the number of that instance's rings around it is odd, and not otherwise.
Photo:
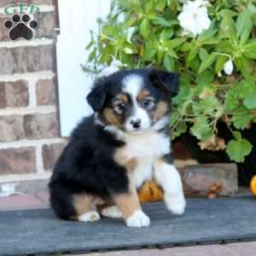
[(184, 3), (183, 11), (177, 16), (177, 20), (185, 31), (191, 32), (194, 36), (201, 34), (211, 25), (207, 13), (207, 1), (195, 0)]

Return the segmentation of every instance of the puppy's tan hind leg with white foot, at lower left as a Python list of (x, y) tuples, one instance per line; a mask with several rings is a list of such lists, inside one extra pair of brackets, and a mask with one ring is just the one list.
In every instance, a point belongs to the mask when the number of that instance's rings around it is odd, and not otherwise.
[(76, 216), (74, 218), (79, 221), (92, 222), (101, 218), (89, 195), (73, 195), (73, 207), (76, 211)]

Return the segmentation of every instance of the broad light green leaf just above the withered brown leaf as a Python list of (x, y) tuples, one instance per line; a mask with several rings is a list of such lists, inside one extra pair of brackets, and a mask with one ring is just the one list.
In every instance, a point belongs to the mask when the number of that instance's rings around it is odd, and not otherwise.
[(195, 119), (195, 124), (191, 127), (190, 131), (195, 137), (203, 141), (213, 135), (213, 131), (208, 124), (208, 120), (204, 116), (200, 116)]

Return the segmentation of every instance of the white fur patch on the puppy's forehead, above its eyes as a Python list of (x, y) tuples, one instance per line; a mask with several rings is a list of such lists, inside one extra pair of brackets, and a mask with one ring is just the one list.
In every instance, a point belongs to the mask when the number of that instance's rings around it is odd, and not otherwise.
[(131, 74), (123, 80), (124, 91), (128, 93), (133, 100), (136, 100), (137, 95), (143, 87), (143, 77), (137, 74)]

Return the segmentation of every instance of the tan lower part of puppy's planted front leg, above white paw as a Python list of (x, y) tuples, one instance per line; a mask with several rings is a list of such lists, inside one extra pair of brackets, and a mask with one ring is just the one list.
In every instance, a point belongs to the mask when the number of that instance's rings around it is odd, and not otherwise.
[(131, 191), (126, 194), (114, 195), (113, 200), (119, 207), (124, 218), (129, 218), (134, 212), (142, 209), (136, 189), (131, 189)]

